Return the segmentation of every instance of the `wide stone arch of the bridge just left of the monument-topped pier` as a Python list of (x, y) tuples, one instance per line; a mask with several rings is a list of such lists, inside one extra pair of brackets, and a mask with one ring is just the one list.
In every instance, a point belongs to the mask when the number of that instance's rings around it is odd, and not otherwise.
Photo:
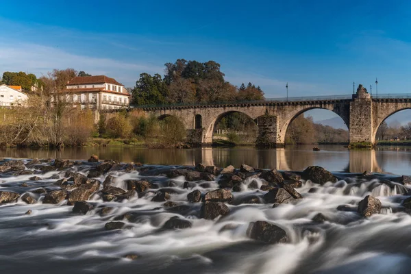
[[(349, 130), (349, 112), (347, 110), (341, 110), (339, 105), (327, 105), (327, 106), (319, 106), (319, 105), (301, 105), (301, 108), (297, 108), (293, 112), (286, 113), (282, 115), (280, 119), (280, 125), (278, 127), (279, 134), (277, 134), (277, 142), (280, 144), (284, 144), (286, 140), (286, 132), (288, 126), (294, 121), (299, 115), (307, 112), (308, 110), (329, 110), (337, 114), (341, 119), (343, 119), (347, 129)], [(281, 116), (281, 114), (280, 114)]]

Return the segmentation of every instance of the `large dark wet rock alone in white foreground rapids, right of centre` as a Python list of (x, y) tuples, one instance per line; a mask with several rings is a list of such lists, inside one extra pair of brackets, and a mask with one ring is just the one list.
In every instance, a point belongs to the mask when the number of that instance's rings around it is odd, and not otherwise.
[(284, 229), (265, 221), (251, 223), (249, 236), (251, 239), (260, 240), (269, 244), (288, 242), (288, 237)]

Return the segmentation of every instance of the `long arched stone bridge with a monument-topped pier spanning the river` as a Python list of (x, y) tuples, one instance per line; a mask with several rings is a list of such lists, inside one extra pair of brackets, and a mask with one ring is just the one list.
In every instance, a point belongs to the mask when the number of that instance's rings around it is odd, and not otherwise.
[(379, 125), (395, 112), (411, 108), (411, 97), (380, 95), (375, 98), (364, 88), (359, 88), (356, 95), (347, 96), (137, 108), (159, 119), (177, 117), (189, 132), (197, 134), (196, 142), (201, 144), (212, 143), (214, 127), (225, 115), (241, 112), (256, 122), (257, 145), (276, 147), (284, 145), (288, 125), (293, 119), (316, 108), (331, 110), (343, 119), (349, 129), (350, 143), (374, 143)]

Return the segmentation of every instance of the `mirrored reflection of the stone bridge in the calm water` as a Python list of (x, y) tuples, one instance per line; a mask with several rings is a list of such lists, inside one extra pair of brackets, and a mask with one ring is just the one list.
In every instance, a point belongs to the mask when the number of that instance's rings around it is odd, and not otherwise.
[(194, 155), (186, 164), (202, 162), (206, 165), (239, 167), (249, 164), (260, 169), (303, 171), (307, 166), (319, 165), (331, 171), (362, 173), (382, 172), (374, 150), (310, 151), (307, 149), (213, 149), (203, 148), (193, 151)]

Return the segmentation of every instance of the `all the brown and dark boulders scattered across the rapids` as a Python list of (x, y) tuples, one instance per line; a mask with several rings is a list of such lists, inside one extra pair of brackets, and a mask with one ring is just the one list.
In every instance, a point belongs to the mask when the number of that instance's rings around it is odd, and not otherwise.
[[(79, 168), (73, 169), (77, 165)], [(59, 171), (59, 174), (47, 178), (43, 177), (49, 171)], [(119, 182), (116, 182), (118, 178), (115, 177), (114, 172), (131, 173), (132, 171), (138, 171), (139, 175), (147, 177), (153, 175), (164, 175), (171, 179), (184, 177), (183, 188), (195, 188), (195, 190), (188, 192), (185, 203), (177, 203), (177, 201), (173, 201), (173, 195), (182, 192), (176, 190), (177, 185), (173, 180), (170, 180), (169, 187), (159, 187), (158, 184), (148, 179), (126, 179), (124, 185), (127, 189), (119, 188)], [(303, 199), (303, 195), (297, 192), (296, 188), (300, 188), (306, 180), (320, 185), (334, 184), (338, 181), (337, 177), (321, 166), (308, 166), (305, 171), (300, 173), (259, 170), (246, 164), (242, 164), (240, 169), (235, 169), (234, 166), (220, 169), (216, 166), (204, 166), (203, 164), (196, 164), (194, 168), (155, 169), (152, 166), (120, 163), (114, 160), (102, 162), (97, 155), (91, 155), (88, 163), (62, 159), (34, 159), (25, 164), (23, 160), (9, 160), (0, 164), (0, 172), (12, 175), (34, 175), (29, 178), (32, 182), (55, 179), (52, 188), (36, 188), (24, 193), (0, 191), (0, 203), (16, 202), (18, 199), (27, 204), (42, 201), (42, 203), (73, 206), (73, 212), (76, 214), (86, 214), (90, 210), (96, 210), (98, 214), (105, 216), (110, 214), (113, 208), (110, 206), (95, 208), (95, 203), (92, 203), (91, 199), (93, 195), (101, 197), (103, 201), (119, 202), (133, 197), (146, 197), (153, 202), (163, 203), (164, 210), (177, 212), (181, 215), (184, 215), (182, 212), (190, 212), (195, 203), (200, 203), (197, 216), (207, 220), (226, 216), (232, 206), (241, 203), (270, 203), (273, 204), (273, 208), (282, 203), (296, 203), (299, 199)], [(101, 182), (101, 178), (104, 178), (103, 182)], [(210, 190), (216, 184), (219, 188)], [(204, 191), (202, 191), (203, 189)], [(253, 195), (237, 198), (236, 192), (244, 190), (255, 190), (255, 192)], [(184, 192), (181, 189), (180, 191)], [(403, 201), (403, 206), (411, 209), (411, 198)], [(381, 208), (381, 201), (368, 195), (358, 203), (357, 212), (364, 217), (369, 217), (379, 213)], [(340, 206), (337, 210), (352, 211), (347, 206)], [(27, 214), (30, 213), (31, 210), (27, 212)], [(123, 219), (133, 221), (134, 218), (132, 213), (123, 214), (123, 216), (116, 217), (113, 221), (106, 223), (105, 229), (122, 229), (127, 227), (126, 223), (122, 222)], [(312, 221), (322, 223), (327, 221), (327, 218), (318, 213)], [(192, 227), (192, 222), (180, 216), (173, 216), (162, 225), (162, 229), (187, 229), (190, 227)], [(288, 236), (283, 228), (266, 221), (251, 223), (247, 233), (251, 238), (262, 242), (288, 241)]]

